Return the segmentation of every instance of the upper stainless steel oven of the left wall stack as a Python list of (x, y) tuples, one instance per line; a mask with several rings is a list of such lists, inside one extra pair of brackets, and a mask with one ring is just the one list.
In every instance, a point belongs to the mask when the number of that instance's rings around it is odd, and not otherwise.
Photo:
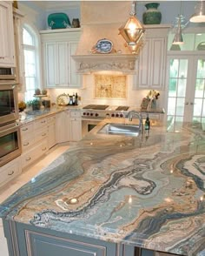
[(0, 83), (0, 126), (18, 118), (17, 84)]

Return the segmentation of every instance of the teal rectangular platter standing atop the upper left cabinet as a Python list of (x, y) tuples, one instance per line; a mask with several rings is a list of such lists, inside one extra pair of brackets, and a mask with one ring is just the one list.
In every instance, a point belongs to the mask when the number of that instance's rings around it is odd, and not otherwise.
[(52, 30), (70, 28), (69, 17), (63, 12), (51, 13), (48, 17), (48, 24)]

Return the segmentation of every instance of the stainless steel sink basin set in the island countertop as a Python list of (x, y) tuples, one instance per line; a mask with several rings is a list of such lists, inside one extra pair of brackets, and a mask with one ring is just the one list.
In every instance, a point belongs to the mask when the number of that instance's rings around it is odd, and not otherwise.
[(140, 132), (139, 125), (106, 124), (97, 133), (137, 137), (140, 135)]

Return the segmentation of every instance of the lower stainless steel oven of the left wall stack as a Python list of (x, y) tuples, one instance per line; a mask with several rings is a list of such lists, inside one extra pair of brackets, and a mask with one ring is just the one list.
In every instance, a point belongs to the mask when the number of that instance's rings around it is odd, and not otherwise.
[(20, 156), (21, 152), (19, 125), (13, 122), (0, 126), (0, 166)]

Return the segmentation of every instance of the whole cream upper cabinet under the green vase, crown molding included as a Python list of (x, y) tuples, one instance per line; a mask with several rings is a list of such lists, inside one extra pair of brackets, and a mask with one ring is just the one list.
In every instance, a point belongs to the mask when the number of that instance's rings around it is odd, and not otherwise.
[(169, 27), (148, 27), (145, 44), (138, 59), (137, 85), (141, 89), (162, 90), (165, 84)]

